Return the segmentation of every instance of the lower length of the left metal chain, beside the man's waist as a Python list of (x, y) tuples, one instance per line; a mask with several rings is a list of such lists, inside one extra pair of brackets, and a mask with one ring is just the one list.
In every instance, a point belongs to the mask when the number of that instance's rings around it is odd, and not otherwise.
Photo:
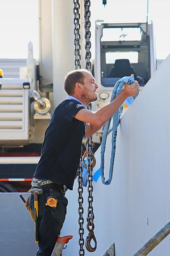
[(82, 207), (83, 204), (83, 197), (82, 197), (82, 192), (83, 192), (83, 188), (82, 188), (82, 152), (81, 152), (81, 157), (80, 157), (80, 162), (79, 162), (79, 169), (78, 169), (78, 179), (77, 179), (79, 186), (78, 186), (78, 193), (79, 193), (79, 197), (78, 197), (78, 204), (79, 204), (79, 208), (78, 208), (78, 213), (79, 213), (79, 256), (84, 256), (85, 255), (85, 250), (83, 249), (83, 245), (85, 244), (85, 241), (83, 239), (83, 235), (84, 235), (84, 228), (83, 228), (83, 224), (84, 224), (84, 218), (83, 218), (83, 212), (84, 209)]

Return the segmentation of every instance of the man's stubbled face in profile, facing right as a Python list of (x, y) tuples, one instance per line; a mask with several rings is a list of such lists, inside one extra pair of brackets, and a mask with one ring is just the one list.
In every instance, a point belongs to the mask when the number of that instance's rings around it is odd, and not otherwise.
[(84, 75), (84, 85), (82, 86), (81, 98), (85, 101), (94, 102), (98, 98), (97, 88), (99, 87), (95, 83), (94, 76), (89, 72), (83, 72)]

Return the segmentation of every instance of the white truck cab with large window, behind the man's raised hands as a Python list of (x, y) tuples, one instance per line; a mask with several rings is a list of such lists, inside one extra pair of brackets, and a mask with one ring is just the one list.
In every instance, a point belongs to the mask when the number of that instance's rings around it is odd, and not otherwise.
[[(96, 110), (110, 102), (116, 81), (134, 74), (142, 88), (156, 71), (153, 23), (96, 20), (94, 76), (99, 85)], [(102, 130), (97, 133), (99, 139)]]

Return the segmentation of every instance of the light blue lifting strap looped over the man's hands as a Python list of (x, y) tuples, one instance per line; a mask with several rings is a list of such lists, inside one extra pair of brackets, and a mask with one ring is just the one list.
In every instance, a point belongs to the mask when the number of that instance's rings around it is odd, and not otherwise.
[[(115, 99), (119, 93), (122, 91), (122, 88), (126, 84), (133, 84), (134, 78), (132, 76), (125, 76), (122, 79), (119, 79), (115, 86), (113, 87), (113, 92), (111, 96), (111, 101)], [(127, 105), (132, 103), (133, 100), (136, 98), (136, 96), (127, 98)], [(116, 135), (117, 135), (117, 127), (120, 122), (120, 116), (122, 115), (123, 111), (123, 104), (121, 107), (116, 111), (116, 113), (105, 123), (104, 129), (103, 129), (103, 136), (102, 136), (102, 145), (101, 145), (101, 164), (100, 164), (100, 171), (102, 176), (102, 183), (105, 185), (109, 185), (112, 180), (113, 176), (113, 164), (114, 164), (114, 157), (115, 157), (115, 151), (116, 151)], [(110, 170), (109, 170), (109, 179), (105, 181), (104, 176), (104, 165), (105, 165), (105, 148), (106, 148), (106, 140), (108, 136), (108, 130), (111, 124), (111, 119), (113, 118), (113, 129), (112, 129), (112, 150), (111, 150), (111, 161), (110, 161)]]

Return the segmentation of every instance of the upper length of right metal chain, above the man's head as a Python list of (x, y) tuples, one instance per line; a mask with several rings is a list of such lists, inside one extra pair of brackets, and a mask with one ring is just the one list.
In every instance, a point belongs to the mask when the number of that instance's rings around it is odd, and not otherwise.
[(91, 22), (90, 22), (90, 17), (91, 17), (91, 12), (90, 12), (90, 6), (91, 6), (91, 1), (90, 0), (84, 0), (84, 8), (85, 8), (85, 61), (86, 61), (86, 66), (85, 68), (90, 71), (91, 69)]

